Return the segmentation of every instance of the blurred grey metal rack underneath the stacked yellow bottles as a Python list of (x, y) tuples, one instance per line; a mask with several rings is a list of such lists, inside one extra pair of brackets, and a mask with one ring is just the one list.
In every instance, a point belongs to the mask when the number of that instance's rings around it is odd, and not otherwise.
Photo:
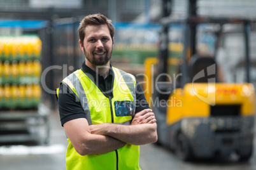
[(1, 143), (48, 144), (50, 123), (48, 109), (41, 106), (37, 111), (0, 112)]

